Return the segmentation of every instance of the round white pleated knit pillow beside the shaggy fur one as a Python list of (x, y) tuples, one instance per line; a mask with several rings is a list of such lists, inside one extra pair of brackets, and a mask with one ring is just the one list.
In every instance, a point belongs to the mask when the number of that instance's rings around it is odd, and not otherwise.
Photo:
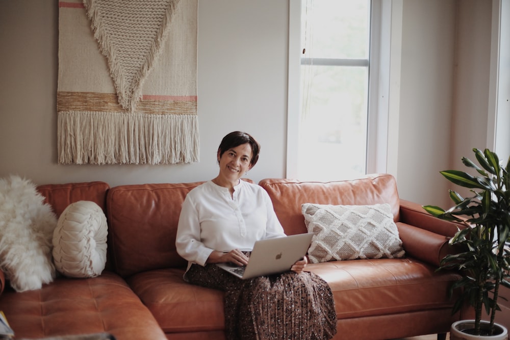
[(101, 208), (91, 201), (69, 204), (53, 233), (53, 258), (69, 277), (94, 277), (106, 265), (108, 225)]

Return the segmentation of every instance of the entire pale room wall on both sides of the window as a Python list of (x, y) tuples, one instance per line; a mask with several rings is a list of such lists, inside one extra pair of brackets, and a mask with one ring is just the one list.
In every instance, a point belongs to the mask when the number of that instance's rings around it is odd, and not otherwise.
[[(37, 184), (104, 180), (111, 186), (206, 180), (217, 174), (220, 139), (235, 129), (262, 144), (248, 177), (285, 176), (290, 1), (297, 0), (199, 0), (200, 163), (64, 166), (57, 164), (56, 138), (58, 2), (0, 0), (0, 177), (17, 173)], [(477, 101), (489, 88), (483, 63), (490, 56), (484, 39), (491, 2), (393, 3), (401, 32), (392, 36), (401, 41), (392, 41), (400, 43), (399, 55), (392, 56), (400, 69), (390, 90), (398, 100), (390, 112), (389, 132), (396, 135), (390, 136), (395, 143), (390, 141), (388, 169), (401, 198), (446, 205), (447, 182), (439, 171), (451, 167), (452, 157), (466, 155), (461, 146), (470, 152), (479, 144), (474, 133), (480, 125), (487, 130)], [(457, 27), (462, 49), (455, 59)], [(455, 84), (462, 85), (460, 96)]]

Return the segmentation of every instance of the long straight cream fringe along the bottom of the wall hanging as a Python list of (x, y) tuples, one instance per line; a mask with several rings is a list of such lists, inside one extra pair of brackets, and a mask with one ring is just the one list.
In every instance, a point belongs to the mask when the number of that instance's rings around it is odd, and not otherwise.
[(59, 112), (58, 154), (59, 164), (198, 162), (198, 116)]

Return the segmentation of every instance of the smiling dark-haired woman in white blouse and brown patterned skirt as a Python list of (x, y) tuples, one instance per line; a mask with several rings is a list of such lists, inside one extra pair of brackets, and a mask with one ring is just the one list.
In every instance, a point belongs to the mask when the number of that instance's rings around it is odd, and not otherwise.
[(225, 292), (227, 339), (328, 339), (336, 333), (331, 290), (304, 272), (307, 258), (290, 272), (241, 280), (214, 264), (244, 266), (257, 240), (285, 237), (269, 195), (241, 180), (259, 159), (259, 143), (243, 132), (226, 135), (218, 148), (218, 175), (184, 200), (177, 252), (188, 260), (184, 279)]

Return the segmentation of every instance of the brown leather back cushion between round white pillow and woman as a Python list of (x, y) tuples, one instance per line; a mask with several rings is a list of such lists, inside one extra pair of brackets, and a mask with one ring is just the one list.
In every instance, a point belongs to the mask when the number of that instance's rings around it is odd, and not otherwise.
[(184, 198), (202, 182), (124, 185), (107, 196), (108, 247), (123, 277), (151, 269), (183, 267), (175, 250)]

